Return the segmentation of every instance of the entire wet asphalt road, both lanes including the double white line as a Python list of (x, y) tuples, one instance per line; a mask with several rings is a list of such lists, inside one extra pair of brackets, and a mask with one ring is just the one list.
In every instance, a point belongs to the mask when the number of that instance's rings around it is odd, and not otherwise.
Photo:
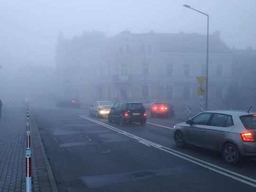
[(88, 109), (30, 106), (60, 192), (255, 192), (256, 161), (229, 166), (199, 147), (176, 147), (181, 118), (124, 127)]

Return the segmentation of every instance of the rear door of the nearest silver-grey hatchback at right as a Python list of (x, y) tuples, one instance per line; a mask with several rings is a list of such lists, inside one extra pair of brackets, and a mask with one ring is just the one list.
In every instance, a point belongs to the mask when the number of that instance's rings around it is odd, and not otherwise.
[(222, 141), (234, 128), (232, 116), (214, 113), (210, 119), (209, 126), (205, 130), (205, 145), (212, 150), (219, 150)]

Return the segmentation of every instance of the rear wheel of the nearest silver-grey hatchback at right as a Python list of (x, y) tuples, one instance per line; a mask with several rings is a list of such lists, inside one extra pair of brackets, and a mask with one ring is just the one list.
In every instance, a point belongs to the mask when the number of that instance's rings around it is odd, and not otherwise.
[(240, 159), (238, 148), (232, 143), (227, 143), (222, 148), (222, 157), (230, 165), (236, 165)]

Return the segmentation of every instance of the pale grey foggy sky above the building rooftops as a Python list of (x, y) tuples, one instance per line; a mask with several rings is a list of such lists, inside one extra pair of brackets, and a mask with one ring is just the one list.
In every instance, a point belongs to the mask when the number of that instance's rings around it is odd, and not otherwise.
[(0, 65), (54, 66), (59, 31), (205, 34), (207, 17), (183, 4), (209, 14), (230, 48), (256, 48), (256, 0), (0, 0)]

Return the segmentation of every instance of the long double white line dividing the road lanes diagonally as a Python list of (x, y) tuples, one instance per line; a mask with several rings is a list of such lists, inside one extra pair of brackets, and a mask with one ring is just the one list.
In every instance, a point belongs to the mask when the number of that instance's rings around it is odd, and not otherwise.
[(165, 151), (167, 153), (170, 153), (170, 154), (172, 154), (172, 155), (174, 155), (176, 157), (185, 159), (185, 160), (190, 161), (190, 162), (192, 162), (194, 164), (197, 164), (197, 165), (199, 165), (201, 167), (208, 168), (208, 169), (210, 169), (210, 170), (212, 170), (212, 171), (214, 171), (216, 173), (219, 173), (221, 175), (228, 176), (228, 177), (230, 177), (232, 179), (235, 179), (237, 181), (240, 181), (240, 182), (242, 182), (244, 184), (248, 184), (250, 186), (256, 187), (256, 180), (252, 179), (250, 177), (247, 177), (245, 175), (238, 174), (236, 172), (230, 171), (230, 170), (225, 169), (223, 167), (216, 166), (214, 164), (208, 163), (208, 162), (203, 161), (201, 159), (194, 158), (194, 157), (192, 157), (190, 155), (187, 155), (185, 153), (173, 150), (171, 148), (165, 147), (165, 146), (157, 144), (155, 142), (148, 141), (148, 140), (143, 139), (141, 137), (138, 137), (136, 135), (129, 134), (128, 132), (122, 131), (122, 130), (116, 128), (116, 127), (113, 127), (113, 126), (107, 125), (105, 123), (102, 123), (101, 121), (97, 121), (95, 119), (92, 119), (92, 118), (89, 118), (89, 117), (85, 117), (85, 116), (82, 116), (82, 115), (79, 116), (79, 117), (82, 117), (84, 119), (87, 119), (89, 121), (92, 121), (94, 123), (102, 125), (104, 127), (107, 127), (107, 128), (109, 128), (109, 129), (111, 129), (113, 131), (118, 132), (119, 134), (123, 134), (123, 135), (126, 135), (126, 136), (130, 137), (130, 138), (133, 138), (133, 139), (137, 140), (138, 142), (145, 144), (146, 146), (155, 147), (156, 149), (163, 150), (163, 151)]

